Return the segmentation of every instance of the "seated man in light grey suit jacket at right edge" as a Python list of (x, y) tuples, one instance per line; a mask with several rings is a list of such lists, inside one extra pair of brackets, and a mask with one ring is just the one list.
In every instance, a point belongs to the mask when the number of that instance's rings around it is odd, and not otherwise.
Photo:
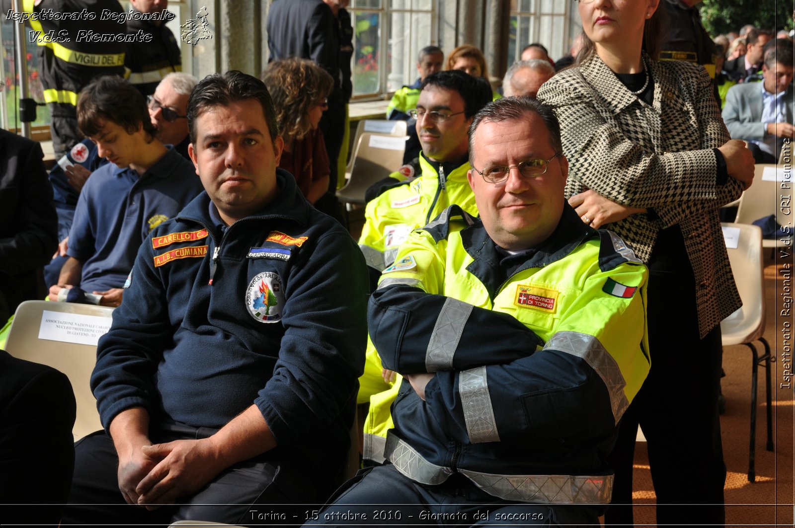
[(765, 54), (762, 83), (733, 86), (726, 95), (723, 121), (731, 138), (749, 143), (757, 163), (775, 163), (793, 127), (793, 49), (778, 41)]

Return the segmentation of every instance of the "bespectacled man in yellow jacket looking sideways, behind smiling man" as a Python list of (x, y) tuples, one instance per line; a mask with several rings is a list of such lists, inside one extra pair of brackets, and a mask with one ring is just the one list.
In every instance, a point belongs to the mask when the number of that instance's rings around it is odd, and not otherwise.
[[(409, 181), (392, 181), (367, 204), (361, 248), (374, 289), (381, 272), (394, 263), (397, 248), (413, 229), (425, 226), (452, 204), (477, 215), (475, 196), (467, 183), (467, 131), (472, 118), (491, 101), (491, 88), (464, 72), (436, 72), (422, 83), (417, 102), (420, 174)], [(359, 403), (370, 403), (363, 456), (382, 460), (383, 438), (391, 426), (390, 404), (400, 386), (382, 379), (381, 359), (368, 343), (364, 375), (359, 379)], [(381, 446), (381, 448), (378, 448)]]

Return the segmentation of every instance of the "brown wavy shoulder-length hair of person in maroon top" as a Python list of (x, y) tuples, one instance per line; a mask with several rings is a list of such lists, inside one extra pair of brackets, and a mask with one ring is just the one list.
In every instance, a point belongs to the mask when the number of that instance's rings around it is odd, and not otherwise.
[(312, 130), (309, 110), (334, 89), (334, 79), (312, 60), (290, 57), (273, 60), (262, 72), (276, 107), (285, 142), (303, 139)]

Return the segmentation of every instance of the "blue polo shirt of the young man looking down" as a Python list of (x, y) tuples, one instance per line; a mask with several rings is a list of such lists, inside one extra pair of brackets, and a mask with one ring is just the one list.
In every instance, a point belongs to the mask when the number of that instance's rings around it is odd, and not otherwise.
[(80, 192), (69, 232), (68, 254), (83, 261), (80, 288), (121, 288), (149, 231), (203, 190), (193, 164), (171, 146), (142, 177), (112, 163), (95, 170)]

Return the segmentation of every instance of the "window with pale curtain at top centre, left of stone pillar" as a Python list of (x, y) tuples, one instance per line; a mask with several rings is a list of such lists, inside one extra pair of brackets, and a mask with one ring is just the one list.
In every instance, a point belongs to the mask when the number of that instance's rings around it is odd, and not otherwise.
[(417, 78), (417, 52), (436, 45), (436, 0), (354, 0), (353, 95), (395, 91)]

